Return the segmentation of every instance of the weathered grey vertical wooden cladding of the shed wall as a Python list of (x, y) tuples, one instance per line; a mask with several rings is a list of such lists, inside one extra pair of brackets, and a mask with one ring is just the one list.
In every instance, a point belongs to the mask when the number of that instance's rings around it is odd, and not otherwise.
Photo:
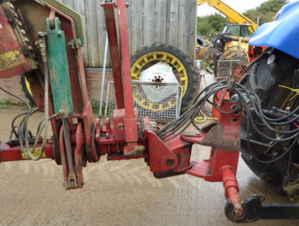
[[(84, 64), (103, 67), (106, 24), (99, 0), (59, 0), (82, 15), (86, 31)], [(197, 0), (127, 0), (131, 54), (151, 44), (179, 48), (195, 59)], [(108, 55), (107, 67), (110, 67)]]

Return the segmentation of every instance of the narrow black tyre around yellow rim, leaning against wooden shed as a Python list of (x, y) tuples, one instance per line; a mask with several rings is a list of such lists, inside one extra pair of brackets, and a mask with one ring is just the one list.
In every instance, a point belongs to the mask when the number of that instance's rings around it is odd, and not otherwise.
[(171, 45), (165, 44), (158, 44), (158, 45), (149, 45), (145, 46), (144, 48), (135, 52), (134, 55), (131, 57), (131, 66), (134, 65), (136, 61), (145, 54), (149, 54), (151, 52), (166, 52), (172, 54), (176, 58), (178, 58), (181, 63), (184, 65), (187, 77), (188, 77), (188, 84), (187, 84), (187, 91), (182, 98), (181, 103), (181, 110), (188, 106), (190, 101), (193, 98), (196, 89), (196, 77), (194, 72), (194, 66), (192, 66), (190, 60), (187, 58), (186, 54), (184, 54), (181, 50)]

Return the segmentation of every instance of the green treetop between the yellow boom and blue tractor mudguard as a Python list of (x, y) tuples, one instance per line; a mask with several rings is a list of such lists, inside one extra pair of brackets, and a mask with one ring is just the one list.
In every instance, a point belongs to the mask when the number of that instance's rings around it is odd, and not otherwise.
[(259, 7), (245, 11), (243, 14), (254, 22), (260, 16), (260, 25), (262, 25), (273, 21), (277, 12), (288, 3), (289, 1), (287, 0), (269, 0), (260, 4)]

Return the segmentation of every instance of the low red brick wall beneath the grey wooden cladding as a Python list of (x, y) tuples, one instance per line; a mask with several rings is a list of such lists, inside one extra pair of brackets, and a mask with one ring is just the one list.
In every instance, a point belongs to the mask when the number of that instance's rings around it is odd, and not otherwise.
[[(99, 100), (101, 83), (102, 83), (102, 71), (86, 71), (86, 84), (89, 95), (89, 100)], [(196, 84), (196, 94), (199, 93), (200, 87), (200, 75), (196, 74), (197, 84)], [(106, 71), (106, 82), (104, 88), (104, 101), (106, 101), (107, 84), (108, 81), (113, 81), (112, 71)], [(0, 85), (4, 89), (16, 94), (22, 98), (25, 98), (25, 94), (22, 91), (22, 86), (20, 84), (20, 77), (16, 76), (13, 78), (0, 79)], [(0, 90), (0, 102), (9, 100), (11, 103), (18, 104), (20, 101), (15, 97)]]

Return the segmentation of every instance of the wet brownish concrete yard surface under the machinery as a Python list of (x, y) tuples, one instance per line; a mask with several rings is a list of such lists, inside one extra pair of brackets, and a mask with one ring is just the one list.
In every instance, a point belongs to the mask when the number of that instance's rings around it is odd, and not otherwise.
[[(213, 75), (208, 75), (208, 83)], [(202, 80), (204, 83), (204, 80)], [(7, 140), (10, 122), (21, 110), (0, 111), (0, 137)], [(42, 115), (36, 114), (36, 126)], [(190, 128), (192, 129), (192, 128)], [(194, 146), (193, 160), (208, 158), (210, 148)], [(62, 167), (52, 160), (0, 164), (0, 226), (141, 226), (234, 225), (224, 215), (221, 183), (190, 175), (155, 179), (142, 159), (89, 163), (83, 189), (65, 191)], [(288, 202), (260, 181), (241, 160), (237, 178), (242, 197), (266, 196)], [(298, 225), (297, 220), (260, 221), (251, 225)]]

